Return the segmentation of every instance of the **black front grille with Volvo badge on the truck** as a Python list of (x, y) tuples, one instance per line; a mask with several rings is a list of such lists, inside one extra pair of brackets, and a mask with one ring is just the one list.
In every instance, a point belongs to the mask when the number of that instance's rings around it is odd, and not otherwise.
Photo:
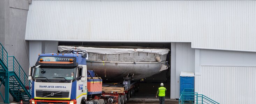
[(36, 91), (36, 97), (68, 97), (69, 92), (50, 92), (50, 91)]

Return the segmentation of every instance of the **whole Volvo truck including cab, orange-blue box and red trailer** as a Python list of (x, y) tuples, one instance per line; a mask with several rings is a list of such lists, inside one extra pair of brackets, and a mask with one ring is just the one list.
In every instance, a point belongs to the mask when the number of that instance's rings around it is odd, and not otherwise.
[(86, 52), (39, 54), (28, 79), (30, 104), (124, 104), (133, 88), (105, 85), (102, 90), (102, 79), (87, 69)]

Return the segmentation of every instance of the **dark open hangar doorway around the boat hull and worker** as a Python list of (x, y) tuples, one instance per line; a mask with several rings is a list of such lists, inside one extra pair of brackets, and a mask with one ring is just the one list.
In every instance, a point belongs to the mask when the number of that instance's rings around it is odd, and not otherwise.
[[(147, 42), (59, 42), (58, 45), (70, 46), (141, 46), (151, 48), (163, 48), (171, 50), (171, 43), (147, 43)], [(167, 54), (167, 61), (170, 66), (170, 51)], [(163, 70), (158, 74), (140, 80), (139, 92), (135, 93), (132, 97), (139, 98), (154, 98), (160, 83), (164, 83), (167, 88), (166, 97), (170, 96), (170, 67)]]

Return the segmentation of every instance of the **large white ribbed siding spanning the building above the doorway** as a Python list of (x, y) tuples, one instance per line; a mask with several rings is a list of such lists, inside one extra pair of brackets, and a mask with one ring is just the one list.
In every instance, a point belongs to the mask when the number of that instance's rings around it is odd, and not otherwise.
[(26, 40), (192, 42), (256, 51), (256, 1), (32, 1)]

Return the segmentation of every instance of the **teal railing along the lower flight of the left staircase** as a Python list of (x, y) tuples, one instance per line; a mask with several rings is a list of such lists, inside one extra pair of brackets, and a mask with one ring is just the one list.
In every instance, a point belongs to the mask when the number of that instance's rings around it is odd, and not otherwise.
[(31, 81), (28, 80), (27, 74), (22, 69), (20, 63), (17, 61), (17, 59), (14, 56), (8, 56), (8, 69), (9, 71), (14, 71), (21, 80), (21, 83), (28, 89), (30, 95), (31, 95)]

